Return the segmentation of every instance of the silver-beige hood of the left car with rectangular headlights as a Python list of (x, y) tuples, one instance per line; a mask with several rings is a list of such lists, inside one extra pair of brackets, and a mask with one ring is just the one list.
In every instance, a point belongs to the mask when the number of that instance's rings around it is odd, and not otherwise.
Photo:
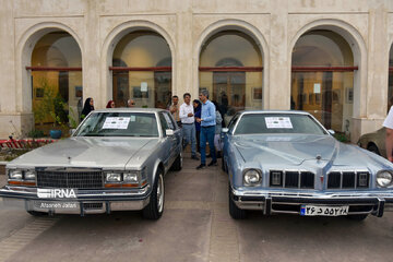
[[(98, 167), (123, 169), (134, 155), (146, 155), (158, 139), (70, 138), (26, 153), (7, 167)], [(142, 164), (142, 163), (141, 163)]]

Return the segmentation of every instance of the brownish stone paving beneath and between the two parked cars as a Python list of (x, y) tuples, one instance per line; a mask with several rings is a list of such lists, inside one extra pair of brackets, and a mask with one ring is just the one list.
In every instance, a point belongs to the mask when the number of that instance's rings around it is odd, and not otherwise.
[(157, 222), (139, 212), (33, 217), (0, 201), (0, 261), (392, 261), (392, 213), (361, 223), (259, 212), (234, 221), (227, 175), (198, 165), (186, 154), (183, 169), (167, 174)]

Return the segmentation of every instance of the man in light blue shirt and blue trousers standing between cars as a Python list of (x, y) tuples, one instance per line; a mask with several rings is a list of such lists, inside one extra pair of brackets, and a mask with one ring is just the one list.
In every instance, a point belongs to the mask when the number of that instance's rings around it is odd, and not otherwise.
[(207, 166), (216, 166), (217, 158), (214, 150), (214, 133), (215, 133), (215, 106), (209, 100), (209, 92), (206, 90), (200, 93), (200, 100), (202, 102), (201, 118), (196, 118), (196, 121), (201, 123), (201, 165), (196, 169), (206, 167), (206, 142), (211, 150), (212, 162)]

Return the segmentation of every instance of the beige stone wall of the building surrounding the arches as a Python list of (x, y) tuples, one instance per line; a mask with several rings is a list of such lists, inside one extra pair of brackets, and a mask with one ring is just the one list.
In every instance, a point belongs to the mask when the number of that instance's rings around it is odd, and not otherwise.
[(116, 44), (143, 28), (156, 31), (168, 43), (174, 94), (190, 92), (193, 97), (201, 45), (223, 28), (249, 34), (262, 50), (265, 109), (289, 109), (291, 49), (300, 35), (311, 28), (332, 29), (349, 43), (359, 67), (354, 74), (353, 140), (381, 127), (385, 117), (393, 43), (390, 0), (0, 0), (0, 138), (32, 129), (25, 67), (43, 35), (63, 29), (75, 38), (84, 97), (94, 97), (102, 108), (112, 95), (108, 66)]

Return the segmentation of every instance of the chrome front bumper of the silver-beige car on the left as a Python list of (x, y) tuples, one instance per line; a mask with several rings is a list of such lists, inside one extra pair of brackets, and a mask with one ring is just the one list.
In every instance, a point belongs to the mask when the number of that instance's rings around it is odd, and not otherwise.
[(36, 188), (9, 187), (0, 189), (7, 206), (49, 214), (103, 214), (112, 211), (139, 211), (150, 202), (150, 187), (130, 190), (79, 190), (76, 198), (38, 198)]

